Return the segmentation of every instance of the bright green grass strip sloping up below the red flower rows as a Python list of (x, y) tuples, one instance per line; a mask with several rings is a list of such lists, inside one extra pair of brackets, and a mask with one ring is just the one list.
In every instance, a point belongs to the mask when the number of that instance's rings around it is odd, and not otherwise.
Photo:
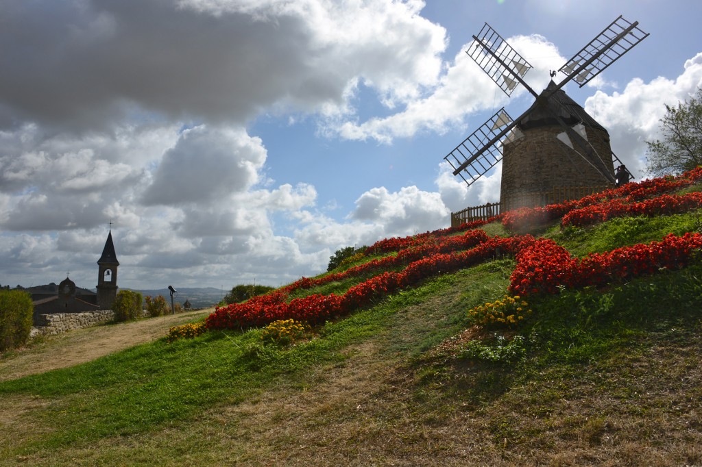
[[(498, 285), (488, 295), (503, 290), (507, 272), (502, 266), (481, 266), (477, 273), (482, 270), (498, 276)], [(457, 329), (465, 306), (486, 297), (484, 286), (465, 292), (458, 301), (465, 305), (438, 321), (430, 314), (421, 315), (421, 325), (393, 316), (440, 294), (466, 274), (428, 281), (371, 309), (327, 323), (317, 330), (318, 339), (293, 348), (260, 343), (260, 330), (211, 332), (173, 344), (161, 339), (77, 367), (0, 383), (0, 395), (25, 393), (51, 400), (41, 422), (56, 431), (39, 441), (43, 448), (183, 423), (213, 405), (251, 398), (278, 378), (304, 374), (310, 365), (343, 360), (343, 348), (373, 336), (385, 335), (391, 352), (430, 347)], [(418, 342), (417, 327), (423, 327)]]

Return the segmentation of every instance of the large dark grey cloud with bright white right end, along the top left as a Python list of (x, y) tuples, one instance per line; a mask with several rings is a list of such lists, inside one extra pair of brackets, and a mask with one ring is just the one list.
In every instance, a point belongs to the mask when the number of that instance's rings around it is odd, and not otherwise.
[[(245, 123), (262, 109), (344, 107), (362, 79), (386, 102), (435, 83), (446, 32), (420, 2), (102, 0), (0, 7), (15, 44), (0, 128), (83, 132), (153, 119)], [(19, 49), (21, 44), (21, 49)]]

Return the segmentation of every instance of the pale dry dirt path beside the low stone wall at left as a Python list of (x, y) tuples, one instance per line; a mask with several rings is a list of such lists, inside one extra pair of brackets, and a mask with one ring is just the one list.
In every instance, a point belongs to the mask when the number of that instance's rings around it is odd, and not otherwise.
[(213, 309), (86, 327), (46, 337), (41, 343), (0, 356), (0, 381), (70, 367), (164, 337), (171, 326), (204, 318)]

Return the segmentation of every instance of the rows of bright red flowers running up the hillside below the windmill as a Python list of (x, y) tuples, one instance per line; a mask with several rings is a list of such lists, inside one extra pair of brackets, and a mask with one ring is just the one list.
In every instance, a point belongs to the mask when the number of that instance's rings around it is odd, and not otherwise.
[[(647, 180), (628, 184), (585, 196), (578, 201), (568, 201), (545, 208), (523, 209), (503, 216), (505, 226), (547, 222), (564, 217), (564, 225), (584, 225), (600, 222), (616, 215), (661, 215), (682, 212), (702, 205), (702, 194), (668, 196), (664, 193), (680, 189), (702, 179), (702, 168), (687, 172), (681, 177)], [(647, 199), (650, 196), (656, 198)], [(603, 201), (607, 201), (604, 203)], [(477, 221), (458, 228), (442, 229), (406, 238), (388, 238), (369, 248), (371, 253), (397, 251), (397, 255), (355, 266), (341, 273), (329, 274), (318, 279), (301, 278), (282, 287), (277, 292), (253, 297), (248, 302), (217, 308), (208, 316), (208, 329), (241, 329), (262, 326), (275, 320), (293, 318), (308, 323), (350, 313), (372, 304), (377, 299), (416, 285), (421, 280), (465, 269), (502, 254), (516, 255), (517, 266), (510, 278), (510, 292), (514, 295), (556, 293), (559, 286), (601, 286), (612, 280), (621, 280), (655, 273), (661, 268), (684, 267), (702, 248), (701, 234), (672, 234), (661, 242), (634, 245), (611, 252), (592, 254), (583, 259), (573, 258), (554, 241), (535, 239), (532, 236), (510, 238), (488, 237), (484, 231), (470, 230), (492, 222)], [(456, 231), (466, 231), (461, 236), (449, 236)], [(351, 287), (343, 295), (310, 295), (286, 302), (290, 292), (307, 289), (335, 280), (359, 276), (380, 269), (395, 269), (406, 265), (402, 271), (385, 271), (363, 283)]]

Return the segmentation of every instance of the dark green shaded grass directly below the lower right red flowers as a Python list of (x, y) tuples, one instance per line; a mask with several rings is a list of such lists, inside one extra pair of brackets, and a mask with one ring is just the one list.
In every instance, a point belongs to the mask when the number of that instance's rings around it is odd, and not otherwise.
[(702, 265), (637, 278), (608, 290), (565, 291), (534, 303), (527, 323), (542, 365), (581, 365), (636, 346), (642, 336), (702, 318)]

